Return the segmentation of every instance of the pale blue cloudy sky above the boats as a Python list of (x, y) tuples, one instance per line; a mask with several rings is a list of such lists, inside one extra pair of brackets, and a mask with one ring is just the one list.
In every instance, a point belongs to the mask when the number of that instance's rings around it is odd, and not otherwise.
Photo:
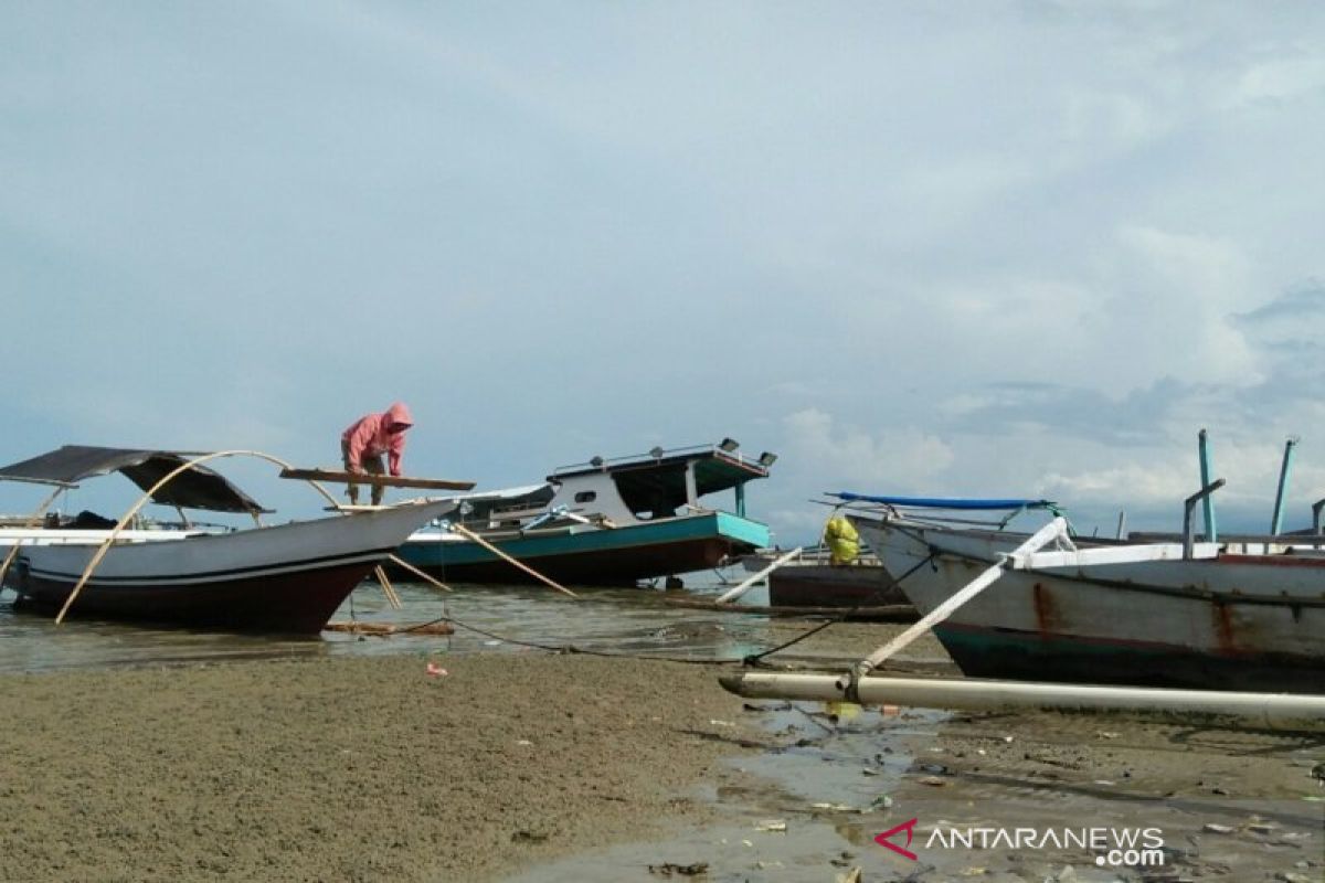
[(783, 545), (836, 490), (1178, 530), (1202, 429), (1220, 527), (1289, 438), (1325, 498), (1316, 3), (5, 3), (0, 181), (4, 463), (335, 466), (400, 400), (480, 490), (774, 451)]

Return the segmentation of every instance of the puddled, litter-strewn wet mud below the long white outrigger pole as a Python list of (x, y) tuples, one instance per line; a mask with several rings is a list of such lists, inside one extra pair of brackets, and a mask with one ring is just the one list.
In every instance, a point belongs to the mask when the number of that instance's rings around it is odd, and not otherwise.
[[(743, 723), (786, 747), (700, 789), (716, 821), (506, 883), (1325, 879), (1325, 788), (1308, 774), (1321, 737), (775, 702)], [(874, 841), (889, 830), (914, 858)]]

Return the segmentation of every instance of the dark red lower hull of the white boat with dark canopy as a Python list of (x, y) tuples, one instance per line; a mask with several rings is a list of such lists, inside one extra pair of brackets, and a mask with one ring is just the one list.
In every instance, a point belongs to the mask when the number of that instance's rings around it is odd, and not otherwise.
[[(203, 585), (121, 586), (91, 581), (74, 598), (69, 616), (225, 631), (317, 634), (374, 565), (372, 561), (341, 564)], [(24, 575), (12, 588), (24, 602), (58, 612), (74, 585)]]

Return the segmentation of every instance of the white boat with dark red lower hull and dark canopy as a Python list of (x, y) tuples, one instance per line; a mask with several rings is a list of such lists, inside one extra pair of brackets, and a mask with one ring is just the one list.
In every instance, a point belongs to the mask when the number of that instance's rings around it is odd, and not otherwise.
[[(238, 451), (70, 445), (0, 469), (0, 481), (54, 486), (42, 508), (85, 478), (119, 473), (146, 491), (131, 514), (151, 499), (182, 518), (172, 530), (125, 530), (130, 515), (110, 528), (0, 528), (0, 547), (9, 552), (3, 585), (23, 606), (58, 612), (58, 618), (72, 610), (200, 629), (315, 634), (413, 530), (452, 507), (416, 502), (262, 526), (268, 510), (200, 465), (232, 453)], [(184, 510), (245, 514), (256, 526), (203, 528)], [(38, 511), (32, 520), (46, 519)]]

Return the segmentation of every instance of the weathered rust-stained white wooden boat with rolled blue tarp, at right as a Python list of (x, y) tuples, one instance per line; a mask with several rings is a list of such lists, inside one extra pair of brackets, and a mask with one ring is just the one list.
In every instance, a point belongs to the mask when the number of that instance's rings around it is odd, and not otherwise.
[[(945, 523), (938, 508), (1036, 500), (843, 495), (877, 507), (852, 522), (922, 614), (1027, 535)], [(1153, 539), (1153, 537), (1151, 537)], [(1190, 548), (1190, 537), (1189, 548)], [(1007, 569), (934, 626), (967, 675), (1207, 690), (1325, 694), (1321, 537), (1230, 537), (1212, 557)], [(1080, 549), (1138, 548), (1076, 540)]]

